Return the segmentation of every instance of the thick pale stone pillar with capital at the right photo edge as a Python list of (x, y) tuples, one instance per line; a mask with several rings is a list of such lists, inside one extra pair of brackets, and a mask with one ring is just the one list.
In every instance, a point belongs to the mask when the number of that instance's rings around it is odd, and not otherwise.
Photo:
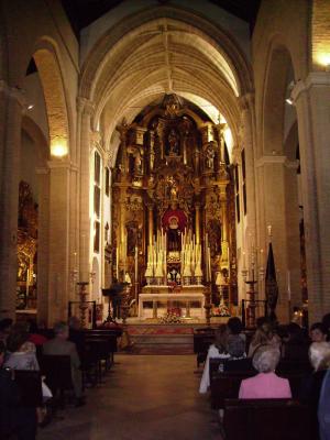
[(330, 73), (310, 73), (292, 94), (297, 116), (309, 322), (330, 310)]

